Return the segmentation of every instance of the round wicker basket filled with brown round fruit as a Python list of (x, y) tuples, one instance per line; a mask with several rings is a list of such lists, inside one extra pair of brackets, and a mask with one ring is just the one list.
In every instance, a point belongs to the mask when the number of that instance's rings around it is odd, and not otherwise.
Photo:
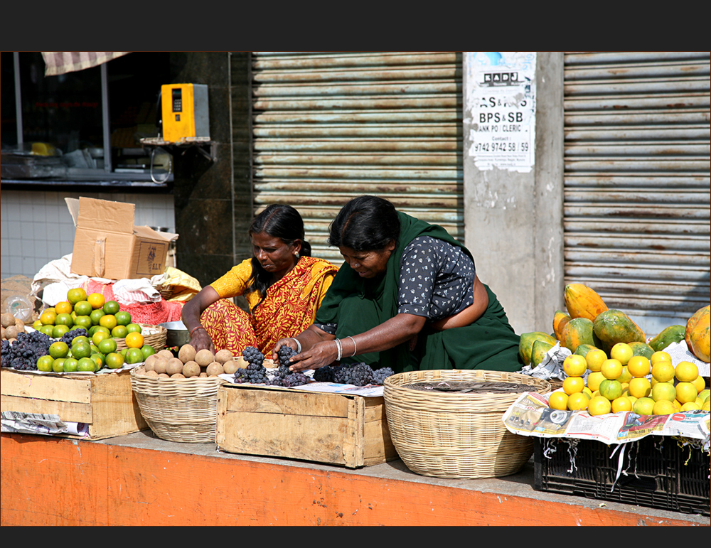
[(146, 377), (144, 366), (131, 370), (131, 387), (141, 415), (161, 439), (186, 444), (215, 441), (220, 377)]

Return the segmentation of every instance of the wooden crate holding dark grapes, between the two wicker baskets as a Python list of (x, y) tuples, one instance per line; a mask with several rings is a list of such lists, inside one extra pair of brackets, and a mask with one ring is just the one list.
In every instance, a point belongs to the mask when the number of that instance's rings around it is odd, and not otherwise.
[(346, 468), (397, 458), (383, 397), (222, 385), (217, 414), (215, 442), (229, 453)]

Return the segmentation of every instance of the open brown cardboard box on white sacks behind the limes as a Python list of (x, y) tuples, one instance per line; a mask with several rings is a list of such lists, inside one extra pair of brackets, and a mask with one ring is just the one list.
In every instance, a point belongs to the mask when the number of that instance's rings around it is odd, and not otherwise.
[(150, 278), (166, 269), (170, 232), (134, 226), (132, 203), (65, 198), (77, 232), (71, 271), (106, 279)]

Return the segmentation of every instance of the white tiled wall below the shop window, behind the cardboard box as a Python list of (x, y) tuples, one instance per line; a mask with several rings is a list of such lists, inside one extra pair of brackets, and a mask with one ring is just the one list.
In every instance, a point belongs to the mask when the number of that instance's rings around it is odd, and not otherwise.
[(48, 262), (72, 252), (74, 222), (64, 198), (98, 198), (136, 205), (136, 225), (175, 232), (173, 195), (5, 190), (0, 199), (2, 279), (33, 278)]

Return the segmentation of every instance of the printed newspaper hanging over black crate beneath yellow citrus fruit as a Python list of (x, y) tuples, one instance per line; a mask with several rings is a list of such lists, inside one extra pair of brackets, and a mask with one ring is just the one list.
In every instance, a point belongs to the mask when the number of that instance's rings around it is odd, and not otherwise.
[(548, 407), (545, 394), (525, 392), (503, 414), (508, 431), (540, 438), (594, 439), (605, 444), (626, 444), (651, 434), (699, 440), (709, 451), (710, 413), (687, 411), (668, 415), (617, 412), (592, 416), (587, 411), (560, 411)]

